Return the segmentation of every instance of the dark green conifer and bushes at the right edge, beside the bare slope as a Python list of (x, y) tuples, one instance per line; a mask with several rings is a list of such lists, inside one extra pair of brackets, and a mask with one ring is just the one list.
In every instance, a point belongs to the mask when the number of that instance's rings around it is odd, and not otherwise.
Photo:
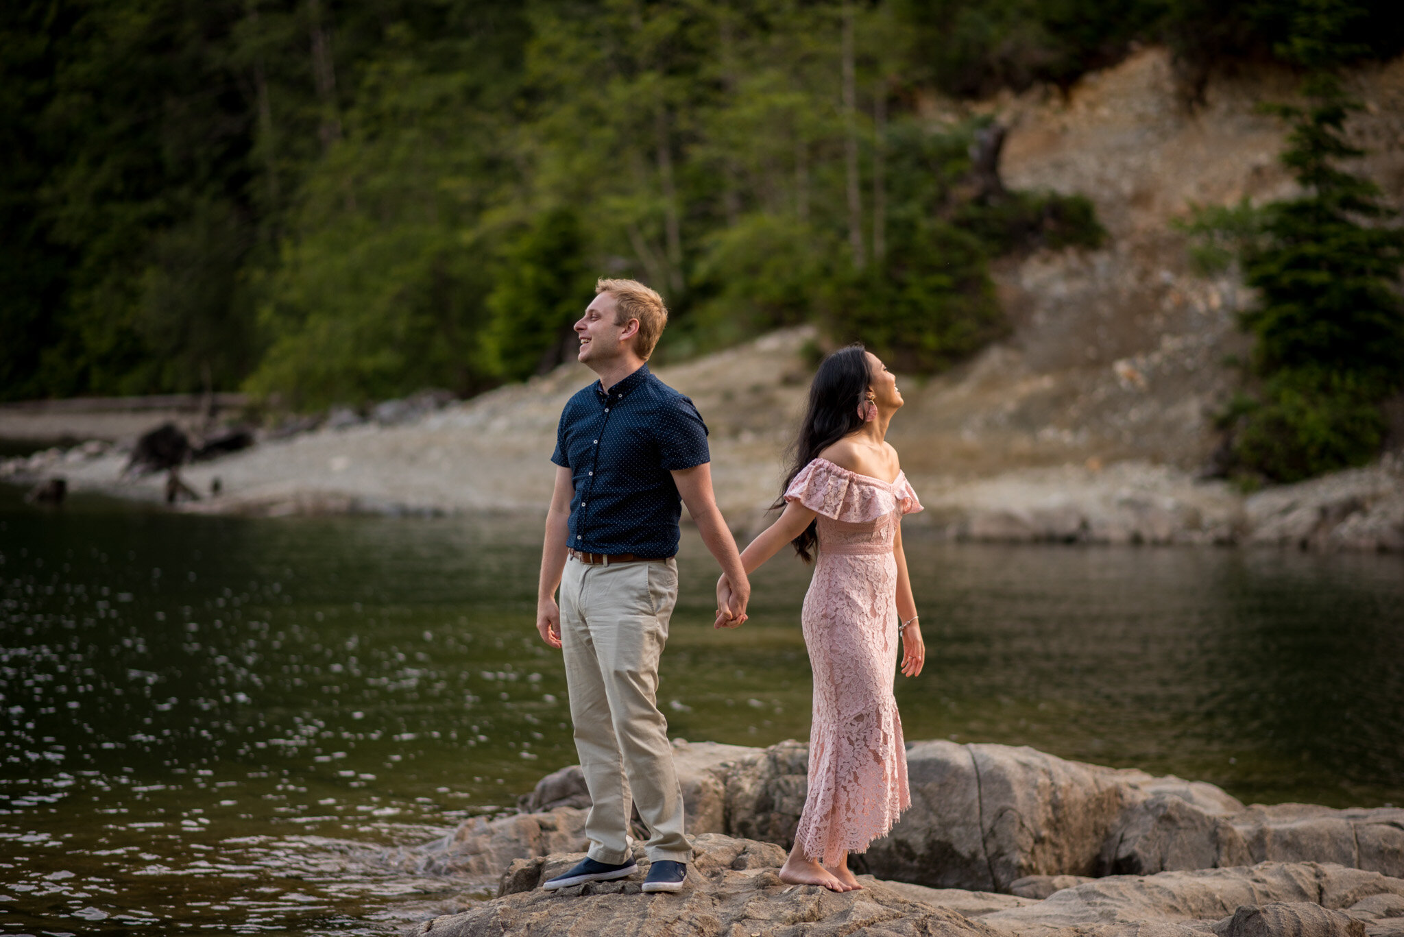
[(1369, 180), (1339, 162), (1362, 156), (1344, 135), (1359, 104), (1332, 73), (1358, 46), (1349, 8), (1317, 0), (1285, 53), (1310, 69), (1304, 107), (1269, 110), (1292, 131), (1282, 162), (1302, 194), (1254, 208), (1205, 211), (1195, 233), (1207, 266), (1237, 260), (1258, 301), (1243, 316), (1257, 339), (1261, 386), (1224, 414), (1238, 471), (1297, 480), (1373, 457), (1380, 403), (1404, 388), (1404, 229)]

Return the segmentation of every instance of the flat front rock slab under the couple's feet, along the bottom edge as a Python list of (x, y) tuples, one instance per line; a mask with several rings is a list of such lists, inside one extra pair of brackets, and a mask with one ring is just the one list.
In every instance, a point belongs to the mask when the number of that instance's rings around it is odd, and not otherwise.
[(774, 843), (695, 837), (688, 882), (677, 895), (644, 895), (639, 872), (546, 892), (541, 882), (580, 860), (564, 853), (518, 860), (498, 896), (416, 926), (439, 937), (598, 937), (699, 934), (806, 937), (949, 934), (969, 937), (1397, 937), (1404, 879), (1323, 863), (1113, 875), (1035, 900), (931, 889), (861, 877), (835, 895), (785, 885)]

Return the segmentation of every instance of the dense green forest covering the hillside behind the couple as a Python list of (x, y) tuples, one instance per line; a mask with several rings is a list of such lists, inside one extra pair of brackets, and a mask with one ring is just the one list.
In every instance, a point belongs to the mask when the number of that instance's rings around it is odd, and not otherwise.
[[(1310, 74), (1394, 56), (1396, 14), (1397, 0), (13, 0), (0, 396), (468, 395), (559, 362), (598, 275), (665, 295), (665, 360), (817, 322), (939, 369), (1002, 329), (993, 257), (1104, 233), (1085, 199), (972, 185), (986, 125), (924, 121), (922, 100), (1067, 89), (1161, 42), (1193, 107), (1234, 63)], [(1327, 34), (1328, 49), (1303, 45)], [(1397, 275), (1397, 257), (1367, 274)], [(1376, 365), (1393, 367), (1376, 357), (1375, 398)]]

